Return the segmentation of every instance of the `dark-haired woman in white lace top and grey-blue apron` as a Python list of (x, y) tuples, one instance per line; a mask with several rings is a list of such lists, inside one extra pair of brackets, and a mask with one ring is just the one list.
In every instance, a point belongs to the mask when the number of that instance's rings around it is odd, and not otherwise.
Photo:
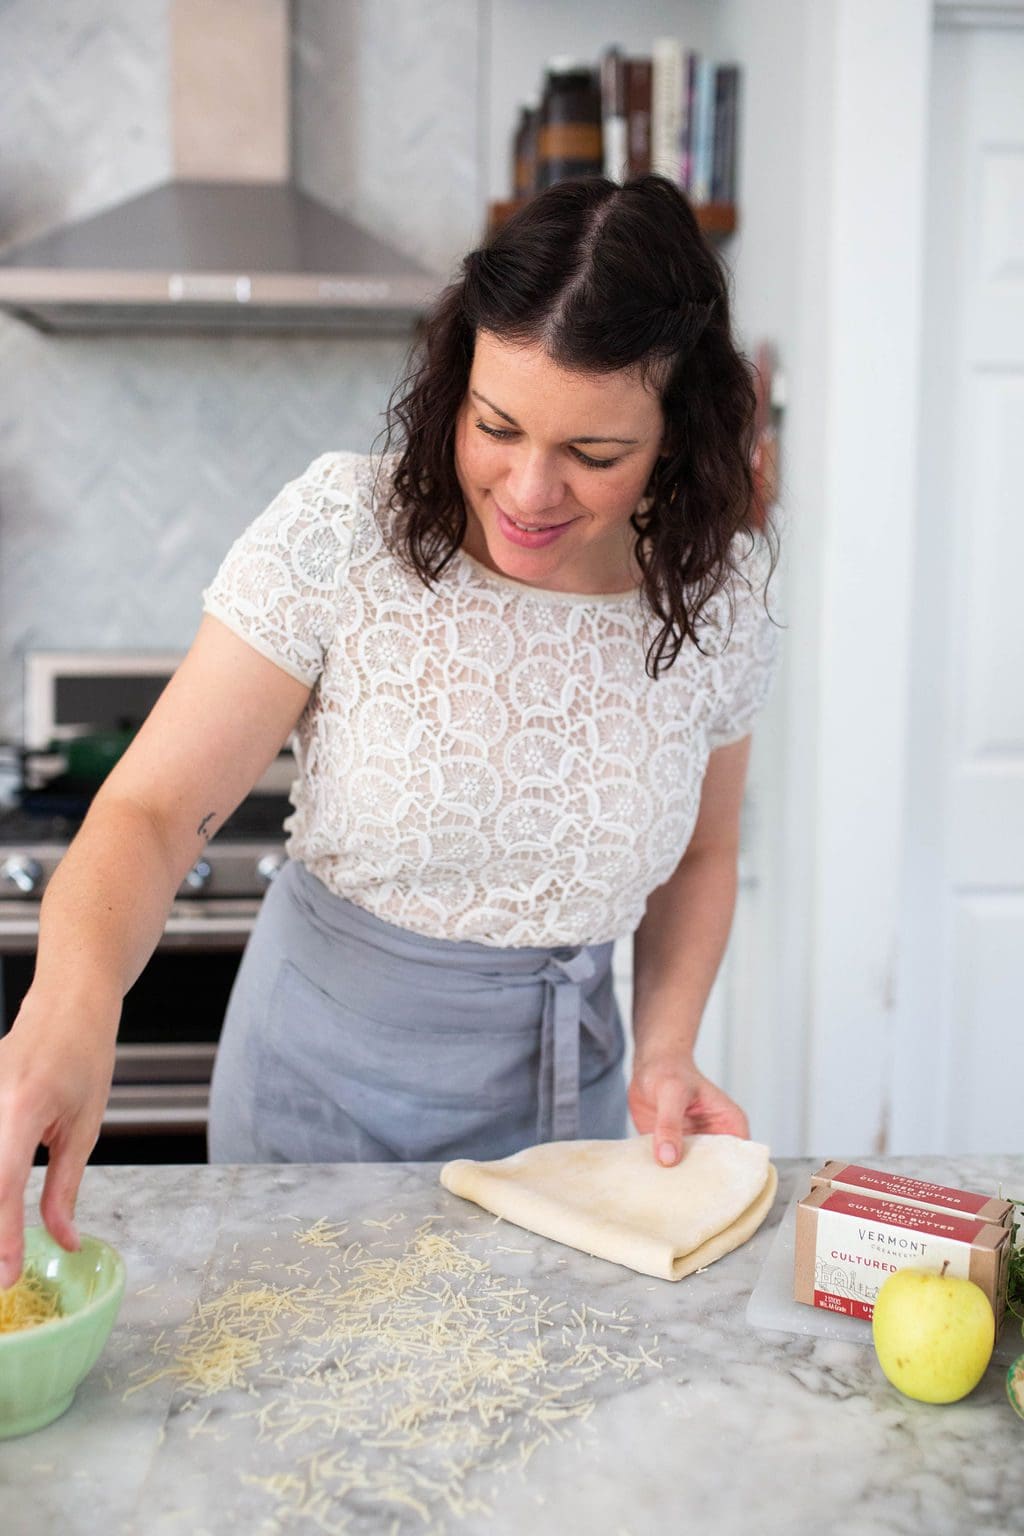
[(38, 1143), (74, 1246), (121, 997), (293, 730), (215, 1160), (500, 1157), (623, 1135), (626, 1103), (666, 1164), (685, 1132), (746, 1135), (694, 1041), (774, 648), (752, 415), (668, 181), (563, 183), (467, 257), (391, 402), (398, 452), (316, 459), (235, 544), (46, 892), (0, 1041), (0, 1284)]

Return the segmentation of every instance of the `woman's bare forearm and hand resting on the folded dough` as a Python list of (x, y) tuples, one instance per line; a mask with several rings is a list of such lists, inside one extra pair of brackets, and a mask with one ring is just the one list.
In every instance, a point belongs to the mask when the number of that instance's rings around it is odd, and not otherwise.
[(642, 1135), (654, 1132), (654, 1155), (666, 1166), (679, 1161), (683, 1135), (749, 1135), (740, 1106), (694, 1063), (732, 925), (749, 756), (749, 736), (711, 753), (686, 852), (651, 892), (634, 935), (629, 1114)]

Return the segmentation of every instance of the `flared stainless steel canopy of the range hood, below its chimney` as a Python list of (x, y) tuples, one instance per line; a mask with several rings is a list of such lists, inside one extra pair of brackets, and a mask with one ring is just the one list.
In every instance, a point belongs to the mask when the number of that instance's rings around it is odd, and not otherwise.
[(0, 257), (40, 330), (405, 329), (436, 287), (287, 183), (170, 181)]

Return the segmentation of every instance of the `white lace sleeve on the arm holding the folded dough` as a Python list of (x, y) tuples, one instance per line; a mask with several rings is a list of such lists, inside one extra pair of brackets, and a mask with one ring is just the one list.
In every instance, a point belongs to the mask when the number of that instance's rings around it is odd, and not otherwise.
[(769, 551), (765, 539), (740, 561), (732, 582), (732, 631), (728, 598), (723, 598), (726, 644), (717, 659), (718, 688), (708, 730), (708, 745), (738, 742), (754, 725), (765, 703), (778, 654), (778, 625), (766, 605)]

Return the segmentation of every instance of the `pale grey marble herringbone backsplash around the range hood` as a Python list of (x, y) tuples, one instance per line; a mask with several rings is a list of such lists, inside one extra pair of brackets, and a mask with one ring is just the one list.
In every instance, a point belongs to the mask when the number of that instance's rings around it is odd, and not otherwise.
[[(448, 275), (481, 232), (476, 0), (296, 0), (295, 172)], [(0, 241), (170, 175), (166, 0), (0, 5)], [(184, 648), (244, 524), (365, 450), (399, 338), (41, 336), (0, 316), (0, 739), (26, 650)]]

